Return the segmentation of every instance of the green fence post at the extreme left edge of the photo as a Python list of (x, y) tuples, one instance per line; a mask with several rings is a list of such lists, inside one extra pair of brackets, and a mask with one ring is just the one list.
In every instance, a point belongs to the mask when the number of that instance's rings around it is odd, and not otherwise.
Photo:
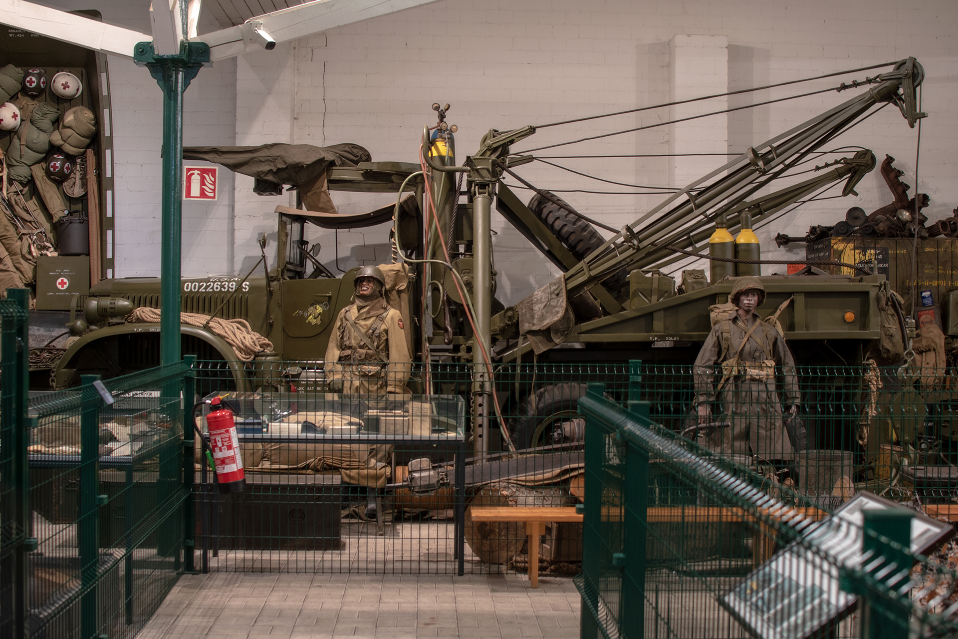
[(27, 552), (33, 522), (30, 509), (30, 469), (27, 460), (27, 383), (29, 381), (29, 291), (8, 288), (0, 326), (0, 356), (4, 375), (0, 392), (0, 486), (4, 488), (0, 510), (0, 624), (13, 636), (26, 633), (28, 596)]

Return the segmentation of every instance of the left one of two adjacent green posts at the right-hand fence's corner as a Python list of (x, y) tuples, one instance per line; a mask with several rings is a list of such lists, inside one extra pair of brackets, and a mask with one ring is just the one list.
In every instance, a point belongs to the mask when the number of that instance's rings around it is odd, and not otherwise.
[[(604, 385), (592, 383), (588, 385), (588, 395), (593, 398), (604, 396)], [(585, 422), (585, 495), (582, 499), (584, 513), (582, 513), (582, 614), (580, 615), (580, 637), (582, 639), (596, 639), (602, 636), (599, 629), (599, 620), (592, 615), (592, 610), (599, 609), (598, 585), (602, 582), (602, 477), (598, 474), (603, 466), (605, 454), (605, 435), (607, 429), (601, 424), (590, 420), (584, 415)], [(589, 600), (586, 601), (586, 595)]]

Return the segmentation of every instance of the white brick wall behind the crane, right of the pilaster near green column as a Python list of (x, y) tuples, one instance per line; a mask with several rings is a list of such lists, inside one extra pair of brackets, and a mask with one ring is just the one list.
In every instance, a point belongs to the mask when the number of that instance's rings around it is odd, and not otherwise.
[[(313, 144), (356, 142), (369, 148), (374, 159), (414, 161), (422, 125), (433, 122), (429, 104), (448, 102), (452, 103), (449, 122), (460, 127), (457, 150), (463, 158), (477, 148), (479, 138), (490, 127), (509, 129), (664, 103), (673, 90), (668, 43), (676, 34), (712, 36), (712, 42), (727, 38), (725, 73), (730, 89), (808, 78), (911, 55), (924, 63), (928, 74), (924, 110), (930, 117), (923, 124), (920, 189), (931, 195), (929, 217), (935, 220), (950, 215), (958, 204), (953, 186), (955, 160), (950, 153), (958, 133), (952, 124), (958, 93), (950, 86), (948, 70), (955, 57), (956, 26), (958, 5), (944, 0), (919, 3), (908, 11), (891, 0), (853, 0), (839, 5), (810, 0), (787, 8), (759, 0), (613, 0), (601, 6), (546, 0), (447, 0), (299, 42), (293, 139)], [(852, 77), (876, 73), (878, 70)], [(708, 90), (703, 86), (700, 94), (712, 93), (709, 82), (714, 80), (701, 79)], [(681, 81), (686, 86), (692, 82), (687, 77)], [(728, 105), (765, 102), (835, 83), (818, 80), (734, 96)], [(697, 121), (699, 137), (708, 143), (698, 152), (722, 152), (722, 148), (713, 148), (717, 140), (727, 140), (730, 152), (741, 152), (849, 95), (825, 93)], [(698, 105), (703, 110), (713, 110), (712, 106)], [(515, 149), (648, 126), (669, 115), (665, 108), (544, 128)], [(904, 179), (914, 184), (916, 139), (916, 131), (908, 128), (894, 107), (888, 107), (843, 135), (833, 148), (865, 146), (875, 150), (879, 160), (884, 153), (891, 153), (898, 159), (897, 166), (906, 171)], [(668, 128), (661, 127), (537, 154), (663, 154), (674, 142)], [(689, 158), (677, 166), (662, 157), (555, 162), (616, 182), (666, 187), (684, 186), (671, 182), (673, 172), (685, 177), (695, 169), (693, 172), (701, 175), (725, 159)], [(538, 163), (522, 167), (520, 174), (541, 188), (635, 191)], [(759, 229), (764, 255), (772, 259), (801, 257), (803, 245), (777, 249), (772, 240), (775, 234), (801, 236), (810, 224), (842, 218), (850, 206), (871, 211), (891, 201), (878, 171), (862, 181), (858, 192), (859, 197), (807, 205)], [(520, 193), (523, 198), (529, 196)], [(614, 227), (635, 219), (663, 198), (658, 194), (561, 195), (582, 213)], [(526, 240), (501, 218), (493, 217), (493, 228), (498, 233), (494, 246), (500, 299), (514, 303), (555, 276), (551, 265), (532, 252)], [(364, 242), (370, 234), (363, 234)], [(314, 232), (314, 236), (324, 243), (321, 257), (330, 263), (331, 251), (326, 247), (332, 242), (331, 234)], [(358, 263), (347, 263), (344, 257), (344, 246), (352, 238), (340, 234), (343, 268)], [(776, 270), (766, 267), (765, 272)]]

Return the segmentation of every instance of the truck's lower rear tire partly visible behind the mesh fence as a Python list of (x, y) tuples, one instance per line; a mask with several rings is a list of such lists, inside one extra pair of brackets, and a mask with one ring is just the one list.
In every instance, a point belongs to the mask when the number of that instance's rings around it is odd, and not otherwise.
[(585, 422), (578, 409), (587, 390), (576, 382), (550, 384), (520, 401), (509, 424), (515, 447), (584, 442)]

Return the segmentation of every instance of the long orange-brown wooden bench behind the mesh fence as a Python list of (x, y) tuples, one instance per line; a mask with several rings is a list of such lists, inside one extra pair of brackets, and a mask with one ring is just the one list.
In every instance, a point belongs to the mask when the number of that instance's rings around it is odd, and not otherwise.
[[(508, 507), (508, 506), (473, 506), (469, 509), (472, 521), (487, 522), (517, 522), (524, 523), (526, 537), (529, 541), (529, 582), (532, 587), (538, 587), (538, 538), (545, 534), (545, 525), (548, 522), (582, 523), (582, 514), (576, 513), (574, 507)], [(623, 510), (614, 507), (604, 507), (603, 521), (622, 521)], [(791, 518), (811, 518), (818, 521), (828, 513), (817, 508), (794, 508), (785, 511), (765, 509), (763, 513), (772, 519), (787, 521)], [(783, 516), (785, 515), (785, 516)], [(745, 513), (741, 508), (719, 506), (654, 506), (646, 511), (646, 520), (649, 523), (722, 523), (722, 522), (755, 522), (755, 516)], [(754, 526), (752, 542), (752, 561), (756, 566), (762, 565), (775, 554), (777, 533), (764, 522)]]

